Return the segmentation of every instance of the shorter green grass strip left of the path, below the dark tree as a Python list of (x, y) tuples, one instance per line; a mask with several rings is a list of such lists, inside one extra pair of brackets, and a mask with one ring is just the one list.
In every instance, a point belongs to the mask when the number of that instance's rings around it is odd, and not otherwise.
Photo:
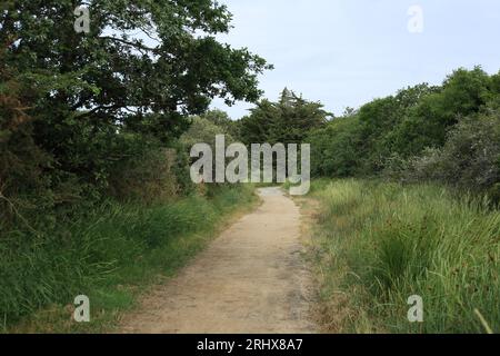
[[(0, 241), (0, 315), (8, 333), (112, 329), (148, 286), (172, 276), (224, 221), (257, 202), (249, 185), (152, 207), (107, 205), (64, 234)], [(161, 276), (161, 277), (160, 277)], [(72, 320), (73, 298), (90, 298), (91, 323)]]

